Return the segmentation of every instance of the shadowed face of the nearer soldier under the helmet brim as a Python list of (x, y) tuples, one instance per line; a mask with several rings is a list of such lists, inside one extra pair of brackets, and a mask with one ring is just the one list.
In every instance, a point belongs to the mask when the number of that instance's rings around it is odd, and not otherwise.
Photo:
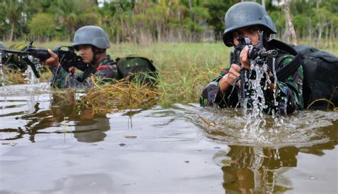
[(247, 28), (240, 28), (238, 31), (235, 31), (235, 32), (232, 33), (233, 42), (234, 42), (235, 45), (238, 45), (239, 42), (238, 42), (237, 38), (239, 36), (242, 36), (242, 37), (249, 38), (252, 45), (257, 45), (258, 41), (260, 40), (259, 31), (260, 31), (260, 28), (258, 28), (256, 26), (247, 27)]

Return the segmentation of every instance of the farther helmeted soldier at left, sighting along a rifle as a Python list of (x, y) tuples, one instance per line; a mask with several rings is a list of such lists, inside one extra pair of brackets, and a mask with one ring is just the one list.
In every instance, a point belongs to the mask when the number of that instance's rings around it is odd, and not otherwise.
[(92, 87), (91, 75), (95, 75), (99, 80), (119, 80), (116, 63), (107, 55), (106, 49), (110, 48), (108, 36), (105, 31), (98, 26), (83, 26), (78, 28), (74, 35), (73, 47), (78, 51), (83, 63), (87, 68), (78, 74), (74, 74), (75, 68), (68, 70), (61, 68), (58, 56), (53, 51), (48, 50), (51, 58), (43, 63), (49, 65), (53, 72), (52, 86), (64, 87)]

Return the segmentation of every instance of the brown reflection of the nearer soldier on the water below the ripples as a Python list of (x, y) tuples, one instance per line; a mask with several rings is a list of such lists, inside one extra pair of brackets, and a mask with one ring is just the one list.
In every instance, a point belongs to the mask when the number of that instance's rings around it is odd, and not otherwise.
[[(292, 180), (283, 174), (297, 167), (299, 152), (323, 156), (324, 150), (333, 150), (337, 145), (337, 133), (334, 134), (334, 140), (329, 143), (301, 149), (295, 146), (275, 149), (229, 146), (230, 151), (219, 151), (214, 160), (222, 166), (225, 193), (285, 193), (293, 190)], [(317, 179), (311, 175), (307, 178)], [(335, 178), (337, 180), (337, 174)]]

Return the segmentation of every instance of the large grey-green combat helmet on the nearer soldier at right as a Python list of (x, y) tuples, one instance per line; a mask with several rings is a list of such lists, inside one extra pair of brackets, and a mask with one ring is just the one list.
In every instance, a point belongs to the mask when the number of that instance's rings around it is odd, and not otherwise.
[(232, 32), (249, 26), (261, 26), (265, 31), (265, 38), (268, 38), (271, 33), (277, 33), (275, 24), (263, 6), (256, 2), (240, 2), (231, 6), (225, 14), (225, 31), (223, 33), (225, 45), (229, 47), (234, 45)]

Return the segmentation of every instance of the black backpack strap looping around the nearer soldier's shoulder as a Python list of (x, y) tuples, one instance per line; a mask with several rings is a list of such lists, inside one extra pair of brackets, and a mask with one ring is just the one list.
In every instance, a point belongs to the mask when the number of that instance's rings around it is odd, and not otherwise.
[[(292, 75), (293, 73), (297, 72), (300, 65), (302, 65), (302, 60), (300, 58), (300, 53), (297, 53), (297, 51), (292, 48), (290, 45), (287, 45), (286, 43), (283, 43), (281, 41), (277, 41), (275, 39), (272, 39), (268, 43), (267, 50), (271, 48), (278, 48), (280, 50), (284, 50), (287, 53), (290, 53), (292, 55), (295, 55), (295, 58), (290, 61), (290, 63), (287, 63), (284, 67), (280, 68), (276, 71), (277, 79), (278, 80), (285, 80), (287, 77)], [(272, 82), (275, 81), (274, 77), (270, 77), (270, 80)]]

